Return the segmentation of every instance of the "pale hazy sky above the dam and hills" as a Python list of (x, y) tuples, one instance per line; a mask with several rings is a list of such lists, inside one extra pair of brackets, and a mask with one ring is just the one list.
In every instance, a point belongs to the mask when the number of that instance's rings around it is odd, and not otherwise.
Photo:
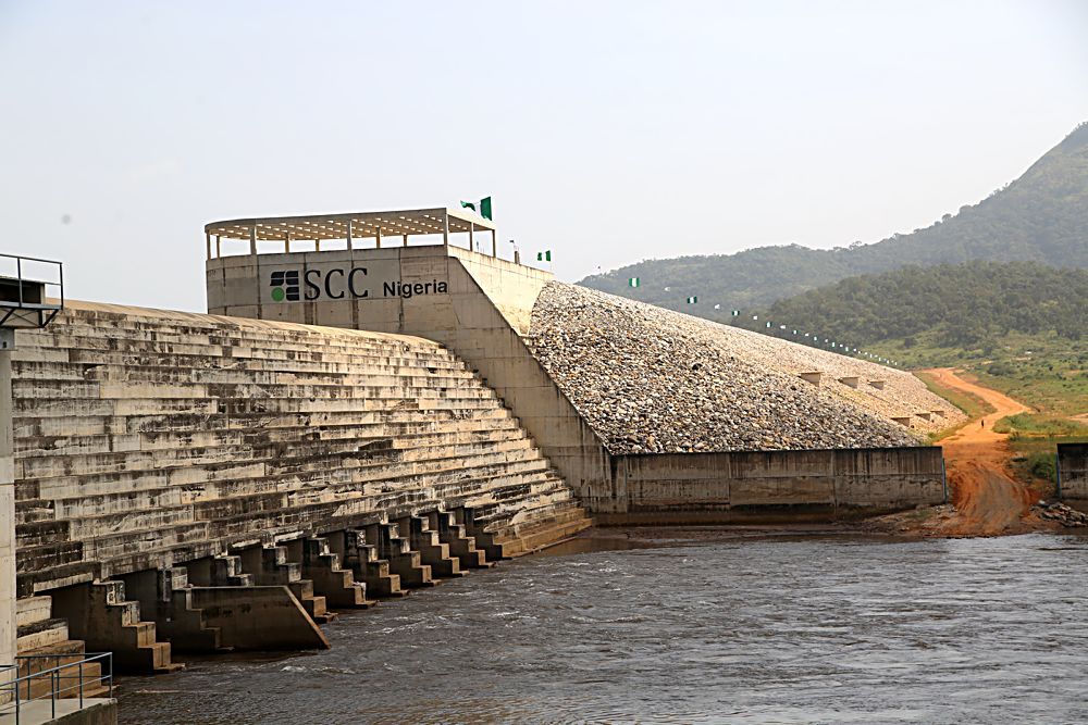
[(1088, 120), (1088, 2), (0, 0), (0, 251), (71, 297), (202, 310), (206, 222), (486, 195), (573, 280), (979, 200)]

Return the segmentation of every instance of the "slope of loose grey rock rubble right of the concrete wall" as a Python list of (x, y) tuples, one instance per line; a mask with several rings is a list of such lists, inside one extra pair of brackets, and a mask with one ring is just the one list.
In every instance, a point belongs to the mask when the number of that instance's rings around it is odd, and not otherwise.
[[(962, 417), (906, 373), (562, 283), (537, 298), (527, 343), (615, 453), (916, 446), (885, 410)], [(808, 370), (886, 385), (817, 387)]]

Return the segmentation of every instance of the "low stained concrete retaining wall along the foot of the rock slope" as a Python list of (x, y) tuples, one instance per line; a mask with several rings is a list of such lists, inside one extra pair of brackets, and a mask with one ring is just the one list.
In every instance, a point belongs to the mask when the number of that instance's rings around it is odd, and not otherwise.
[(944, 501), (938, 447), (613, 457), (604, 524), (802, 521)]

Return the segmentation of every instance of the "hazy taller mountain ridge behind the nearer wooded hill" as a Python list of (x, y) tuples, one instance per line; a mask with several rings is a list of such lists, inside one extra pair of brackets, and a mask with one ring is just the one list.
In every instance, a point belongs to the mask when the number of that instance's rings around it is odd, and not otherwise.
[[(976, 259), (1088, 267), (1088, 123), (1015, 182), (912, 234), (833, 250), (791, 245), (646, 260), (580, 284), (712, 317), (715, 303), (746, 309), (858, 274)], [(629, 287), (630, 277), (642, 286)], [(685, 305), (689, 295), (700, 303)]]

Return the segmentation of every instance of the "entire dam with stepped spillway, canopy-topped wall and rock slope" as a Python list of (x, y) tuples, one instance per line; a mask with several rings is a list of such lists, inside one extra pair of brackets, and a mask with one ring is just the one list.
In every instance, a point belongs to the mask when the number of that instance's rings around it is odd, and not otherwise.
[[(436, 233), (445, 243), (409, 243)], [(960, 413), (913, 377), (747, 333), (708, 342), (702, 321), (595, 292), (565, 301), (580, 292), (499, 259), (493, 233), (444, 209), (215, 223), (208, 314), (67, 302), (18, 332), (20, 652), (162, 672), (172, 651), (322, 648), (337, 610), (594, 521), (944, 500), (941, 450), (920, 436)], [(614, 308), (641, 332), (591, 320)], [(676, 347), (625, 363), (648, 354), (650, 328)], [(650, 398), (632, 403), (632, 386)], [(692, 425), (715, 407), (728, 421)], [(771, 425), (786, 418), (793, 432)]]

